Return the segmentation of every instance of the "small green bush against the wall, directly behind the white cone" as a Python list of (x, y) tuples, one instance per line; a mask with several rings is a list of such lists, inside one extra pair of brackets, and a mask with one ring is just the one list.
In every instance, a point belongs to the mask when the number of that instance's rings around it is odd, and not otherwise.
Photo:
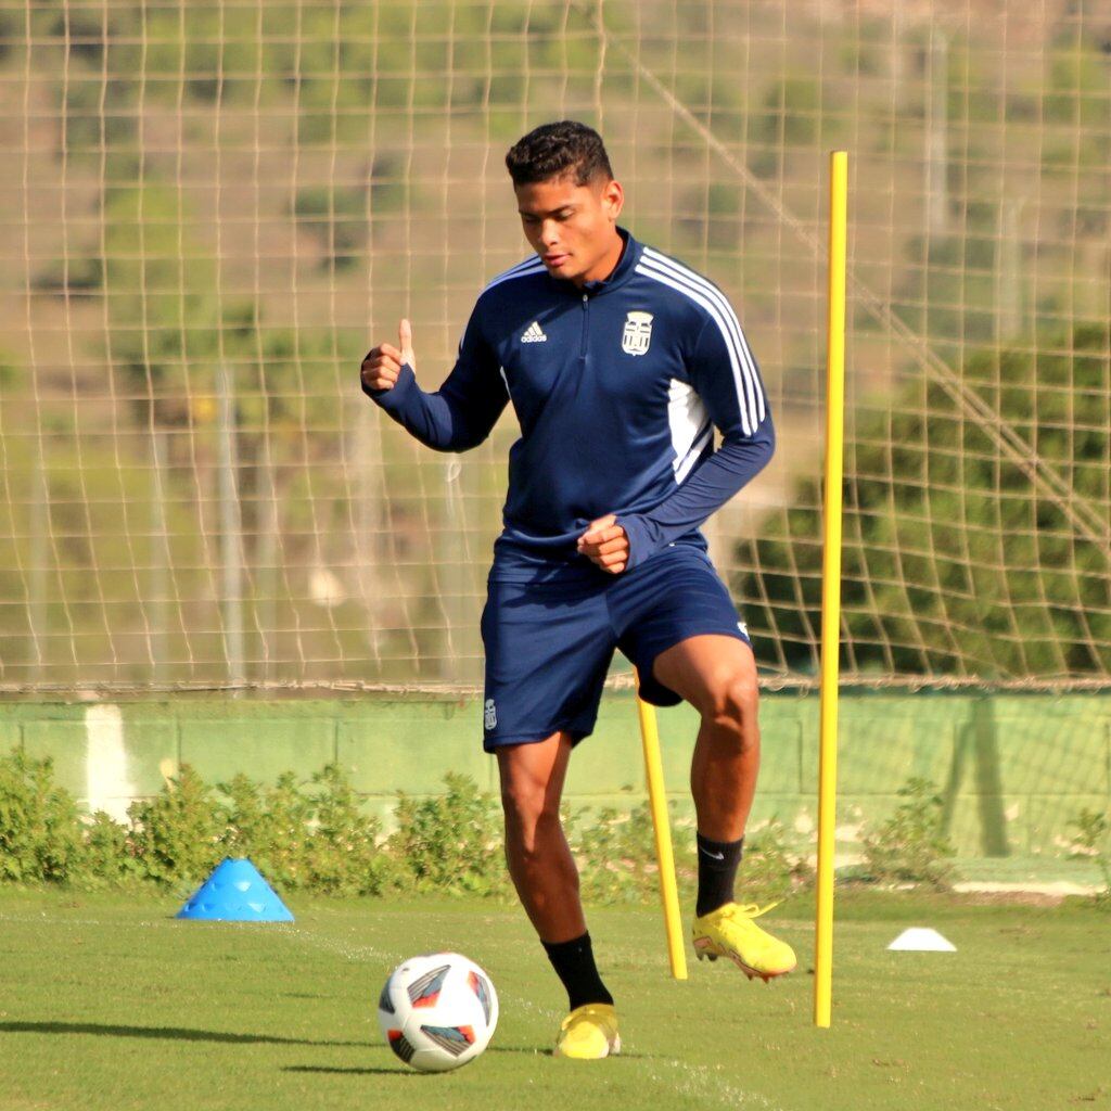
[(942, 830), (942, 800), (931, 782), (912, 778), (899, 789), (908, 801), (885, 821), (864, 830), (867, 872), (861, 879), (922, 883), (944, 891), (955, 850)]

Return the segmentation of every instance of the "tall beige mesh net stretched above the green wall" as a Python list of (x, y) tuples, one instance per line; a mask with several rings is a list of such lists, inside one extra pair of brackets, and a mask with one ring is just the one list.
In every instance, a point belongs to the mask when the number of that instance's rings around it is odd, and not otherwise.
[(817, 668), (843, 147), (844, 675), (1103, 683), (1109, 52), (1071, 0), (0, 2), (0, 685), (480, 681), (512, 413), (434, 456), (358, 367), (404, 314), (439, 384), (567, 117), (761, 362), (707, 531), (765, 678)]

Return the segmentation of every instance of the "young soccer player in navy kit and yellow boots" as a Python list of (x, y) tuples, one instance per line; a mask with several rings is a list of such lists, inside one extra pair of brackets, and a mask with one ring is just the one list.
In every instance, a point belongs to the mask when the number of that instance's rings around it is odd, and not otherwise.
[(361, 379), (440, 451), (477, 447), (507, 403), (520, 423), (482, 613), (484, 747), (498, 757), (510, 874), (569, 995), (556, 1051), (589, 1059), (621, 1042), (559, 803), (614, 648), (637, 665), (643, 699), (685, 699), (701, 715), (699, 958), (764, 980), (794, 968), (790, 947), (752, 921), (759, 911), (733, 901), (759, 764), (757, 672), (699, 532), (768, 462), (774, 437), (724, 294), (618, 226), (623, 193), (598, 133), (546, 124), (506, 163), (536, 256), (481, 292), (436, 393), (417, 386), (406, 320)]

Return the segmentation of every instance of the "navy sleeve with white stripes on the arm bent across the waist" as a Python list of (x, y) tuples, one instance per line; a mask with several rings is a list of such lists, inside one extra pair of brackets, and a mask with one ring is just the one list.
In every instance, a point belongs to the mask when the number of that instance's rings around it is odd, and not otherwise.
[(760, 370), (732, 312), (707, 320), (688, 372), (722, 443), (659, 506), (618, 516), (629, 538), (628, 569), (702, 524), (763, 470), (775, 450)]

